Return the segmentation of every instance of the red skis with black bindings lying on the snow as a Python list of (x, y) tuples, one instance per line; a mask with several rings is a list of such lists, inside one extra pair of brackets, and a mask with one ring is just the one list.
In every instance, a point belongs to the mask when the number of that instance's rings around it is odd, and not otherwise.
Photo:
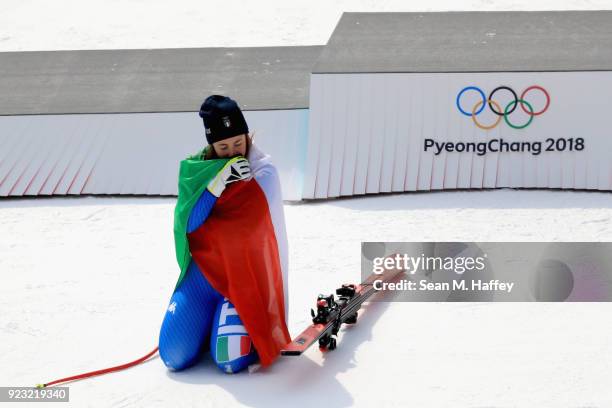
[(315, 342), (319, 349), (334, 350), (337, 346), (336, 335), (343, 324), (357, 323), (357, 312), (361, 305), (378, 291), (374, 289), (377, 280), (389, 282), (400, 274), (399, 270), (387, 271), (384, 274), (371, 274), (358, 285), (344, 284), (336, 289), (336, 296), (319, 295), (317, 311), (310, 309), (312, 324), (306, 328), (291, 343), (287, 344), (281, 355), (302, 355)]

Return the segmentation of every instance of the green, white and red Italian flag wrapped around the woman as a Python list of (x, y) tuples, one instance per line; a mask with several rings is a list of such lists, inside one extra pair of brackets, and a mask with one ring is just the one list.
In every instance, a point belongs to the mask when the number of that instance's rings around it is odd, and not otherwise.
[[(234, 305), (261, 365), (267, 366), (291, 341), (285, 317), (287, 238), (278, 174), (269, 156), (251, 145), (247, 159), (253, 177), (229, 184), (206, 221), (187, 233), (191, 208), (227, 162), (200, 157), (183, 160), (180, 167), (174, 236), (181, 276), (176, 286), (193, 259), (211, 286)], [(234, 340), (222, 341), (232, 350)]]

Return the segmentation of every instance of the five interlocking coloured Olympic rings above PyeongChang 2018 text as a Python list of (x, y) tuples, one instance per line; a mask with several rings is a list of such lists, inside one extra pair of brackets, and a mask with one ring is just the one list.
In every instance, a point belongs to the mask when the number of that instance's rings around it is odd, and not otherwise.
[[(472, 111), (471, 112), (466, 112), (461, 107), (461, 97), (467, 91), (476, 91), (476, 92), (478, 92), (480, 94), (480, 97), (481, 97), (481, 100), (478, 101), (472, 107)], [(493, 99), (493, 95), (495, 95), (495, 93), (500, 92), (500, 91), (510, 92), (512, 94), (512, 97), (513, 97), (513, 99), (506, 105), (506, 107), (504, 109), (502, 109), (502, 107), (499, 105), (499, 103), (497, 103)], [(544, 105), (544, 108), (540, 109), (537, 112), (534, 112), (533, 106), (531, 106), (531, 104), (525, 100), (525, 97), (526, 97), (527, 93), (529, 93), (531, 91), (540, 91), (540, 92), (542, 92), (544, 94), (544, 97), (546, 98), (546, 103)], [(457, 109), (459, 109), (459, 112), (461, 112), (465, 116), (471, 117), (472, 121), (474, 122), (474, 124), (476, 126), (478, 126), (480, 129), (484, 129), (484, 130), (493, 129), (494, 127), (496, 127), (501, 122), (502, 117), (504, 118), (504, 121), (506, 122), (506, 124), (508, 126), (510, 126), (511, 128), (513, 128), (513, 129), (524, 129), (524, 128), (526, 128), (527, 126), (529, 126), (531, 124), (531, 122), (533, 121), (533, 118), (535, 116), (541, 115), (541, 114), (543, 114), (544, 112), (546, 112), (548, 110), (548, 106), (550, 105), (550, 95), (548, 94), (548, 91), (546, 91), (546, 89), (542, 88), (541, 86), (539, 86), (539, 85), (532, 85), (532, 86), (526, 88), (521, 93), (521, 97), (519, 98), (516, 95), (516, 92), (514, 92), (514, 90), (512, 88), (510, 88), (509, 86), (498, 86), (497, 88), (495, 88), (494, 90), (491, 91), (491, 93), (489, 94), (489, 97), (487, 98), (485, 96), (485, 93), (482, 91), (482, 89), (478, 88), (477, 86), (466, 86), (465, 88), (463, 88), (457, 94), (456, 104), (457, 104)], [(491, 111), (495, 115), (497, 115), (497, 119), (495, 120), (495, 122), (493, 122), (490, 125), (484, 125), (484, 124), (480, 123), (478, 121), (478, 119), (476, 118), (476, 116), (478, 116), (484, 110), (486, 105), (488, 105), (489, 108), (491, 109)], [(529, 119), (527, 120), (527, 122), (525, 122), (522, 125), (514, 124), (514, 123), (510, 122), (510, 120), (508, 119), (508, 116), (510, 114), (512, 114), (512, 112), (514, 112), (516, 107), (519, 106), (519, 105), (520, 105), (521, 109), (523, 110), (523, 112), (525, 112), (527, 115), (529, 115)]]

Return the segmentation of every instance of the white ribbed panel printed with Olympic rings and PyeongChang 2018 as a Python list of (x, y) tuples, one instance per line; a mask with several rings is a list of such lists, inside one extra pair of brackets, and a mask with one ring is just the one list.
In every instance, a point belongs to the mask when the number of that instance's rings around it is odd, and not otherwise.
[(612, 72), (313, 74), (304, 198), (612, 190)]

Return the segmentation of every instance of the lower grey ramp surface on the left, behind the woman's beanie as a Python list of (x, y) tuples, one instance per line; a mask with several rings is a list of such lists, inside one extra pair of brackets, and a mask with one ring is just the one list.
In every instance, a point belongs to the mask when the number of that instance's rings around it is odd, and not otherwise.
[(308, 107), (322, 46), (0, 53), (0, 115), (193, 112), (212, 93), (244, 110)]

